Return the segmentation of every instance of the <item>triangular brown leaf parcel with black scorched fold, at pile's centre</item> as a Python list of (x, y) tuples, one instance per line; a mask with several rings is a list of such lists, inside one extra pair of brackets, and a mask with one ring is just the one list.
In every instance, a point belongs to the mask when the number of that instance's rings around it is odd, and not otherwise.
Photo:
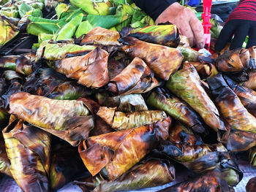
[(108, 82), (108, 91), (115, 95), (146, 93), (159, 84), (154, 72), (140, 58), (134, 58), (124, 70)]

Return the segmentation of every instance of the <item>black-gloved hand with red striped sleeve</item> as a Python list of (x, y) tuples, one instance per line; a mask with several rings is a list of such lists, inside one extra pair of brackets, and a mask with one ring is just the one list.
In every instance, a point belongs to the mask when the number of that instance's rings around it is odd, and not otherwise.
[(247, 35), (249, 39), (246, 48), (256, 45), (256, 2), (252, 0), (241, 1), (231, 12), (219, 34), (215, 50), (222, 50), (227, 42), (231, 42), (230, 50), (241, 47)]

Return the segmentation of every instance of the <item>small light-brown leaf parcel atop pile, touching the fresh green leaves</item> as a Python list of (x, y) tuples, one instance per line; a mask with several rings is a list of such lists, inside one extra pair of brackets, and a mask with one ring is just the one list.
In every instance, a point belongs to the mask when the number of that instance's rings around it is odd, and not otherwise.
[(120, 35), (117, 31), (108, 30), (101, 27), (91, 29), (80, 41), (80, 45), (105, 45), (118, 46)]

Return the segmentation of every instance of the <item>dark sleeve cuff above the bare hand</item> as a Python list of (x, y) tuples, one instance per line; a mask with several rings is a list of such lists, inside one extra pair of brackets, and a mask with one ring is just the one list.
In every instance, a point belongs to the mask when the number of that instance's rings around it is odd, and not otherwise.
[(154, 20), (175, 2), (176, 0), (135, 0), (135, 4)]

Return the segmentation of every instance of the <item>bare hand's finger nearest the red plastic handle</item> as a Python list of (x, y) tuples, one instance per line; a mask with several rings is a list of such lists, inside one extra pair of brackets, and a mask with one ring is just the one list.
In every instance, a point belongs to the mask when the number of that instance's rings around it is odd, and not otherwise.
[(198, 48), (203, 49), (205, 46), (205, 36), (203, 33), (203, 26), (200, 20), (197, 19), (195, 14), (192, 12), (190, 16), (189, 26), (192, 28), (193, 35), (195, 37), (195, 43)]

